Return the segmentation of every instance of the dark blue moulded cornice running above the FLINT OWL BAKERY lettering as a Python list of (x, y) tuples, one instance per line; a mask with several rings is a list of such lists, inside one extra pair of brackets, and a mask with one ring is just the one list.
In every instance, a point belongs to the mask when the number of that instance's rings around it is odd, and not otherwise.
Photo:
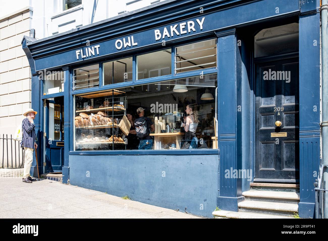
[[(78, 48), (81, 45), (85, 45), (86, 40), (96, 43), (103, 39), (131, 34), (132, 31), (137, 32), (147, 28), (191, 18), (193, 16), (200, 15), (200, 8), (203, 8), (206, 10), (206, 13), (209, 13), (215, 10), (224, 9), (226, 5), (240, 5), (249, 2), (254, 1), (216, 0), (209, 2), (199, 0), (167, 0), (139, 10), (99, 21), (94, 24), (36, 40), (29, 43), (28, 47), (31, 50), (32, 55), (43, 52), (50, 54), (50, 51), (58, 51), (58, 49), (62, 47), (62, 43), (64, 41), (68, 41), (68, 43), (70, 43), (66, 45), (66, 49)], [(117, 26), (121, 27), (117, 28)], [(104, 32), (99, 33), (99, 31)], [(95, 32), (97, 33), (96, 35), (94, 34)], [(74, 39), (76, 40), (74, 41)]]

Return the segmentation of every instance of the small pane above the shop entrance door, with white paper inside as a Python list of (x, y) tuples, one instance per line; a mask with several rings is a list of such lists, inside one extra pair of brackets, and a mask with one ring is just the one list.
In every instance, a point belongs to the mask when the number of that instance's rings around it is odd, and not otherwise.
[(43, 83), (43, 95), (64, 91), (64, 72), (51, 71), (51, 74), (46, 75)]

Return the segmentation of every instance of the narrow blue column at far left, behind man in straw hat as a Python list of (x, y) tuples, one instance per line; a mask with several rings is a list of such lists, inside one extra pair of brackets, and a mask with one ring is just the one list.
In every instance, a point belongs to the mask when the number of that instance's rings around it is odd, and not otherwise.
[[(38, 138), (37, 145), (38, 148), (36, 149), (36, 153), (38, 156), (38, 169), (39, 175), (42, 174), (42, 140), (43, 140), (43, 109), (42, 109), (42, 100), (41, 96), (41, 83), (42, 81), (39, 80), (37, 73), (32, 73), (32, 80), (31, 80), (31, 101), (32, 101), (32, 109), (37, 111), (38, 113), (35, 115), (34, 124), (35, 124), (35, 133)], [(31, 176), (37, 177), (37, 168), (36, 168), (36, 159), (35, 153), (33, 152), (33, 162), (30, 171)]]

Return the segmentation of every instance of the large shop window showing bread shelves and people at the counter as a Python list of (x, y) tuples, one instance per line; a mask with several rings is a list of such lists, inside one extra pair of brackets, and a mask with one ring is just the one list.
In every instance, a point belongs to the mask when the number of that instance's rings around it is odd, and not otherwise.
[(74, 150), (216, 148), (216, 87), (209, 74), (75, 95)]

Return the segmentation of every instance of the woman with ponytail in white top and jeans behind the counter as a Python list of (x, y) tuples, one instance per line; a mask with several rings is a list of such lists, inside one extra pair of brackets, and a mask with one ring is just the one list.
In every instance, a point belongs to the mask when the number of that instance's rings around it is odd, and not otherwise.
[(181, 142), (181, 149), (196, 149), (198, 139), (196, 137), (196, 129), (198, 126), (198, 111), (197, 104), (189, 104), (186, 108), (186, 113), (189, 116), (183, 118), (182, 127), (186, 131), (185, 138)]

